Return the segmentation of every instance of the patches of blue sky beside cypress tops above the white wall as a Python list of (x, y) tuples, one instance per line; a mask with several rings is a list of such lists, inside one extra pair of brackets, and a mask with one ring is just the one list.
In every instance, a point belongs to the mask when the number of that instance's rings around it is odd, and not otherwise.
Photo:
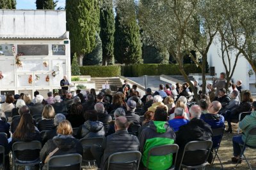
[[(17, 0), (16, 8), (17, 10), (36, 10), (36, 0)], [(65, 0), (59, 0), (57, 4), (58, 7), (65, 8)]]

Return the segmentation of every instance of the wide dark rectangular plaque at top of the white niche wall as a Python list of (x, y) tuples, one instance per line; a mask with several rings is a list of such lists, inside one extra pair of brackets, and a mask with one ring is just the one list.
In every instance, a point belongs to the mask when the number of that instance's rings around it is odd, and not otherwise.
[(18, 52), (22, 55), (48, 55), (48, 45), (17, 45)]

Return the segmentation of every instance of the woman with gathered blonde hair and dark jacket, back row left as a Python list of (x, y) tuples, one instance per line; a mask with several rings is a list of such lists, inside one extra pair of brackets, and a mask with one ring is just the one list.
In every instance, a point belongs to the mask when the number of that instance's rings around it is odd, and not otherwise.
[[(57, 136), (47, 141), (40, 152), (40, 159), (44, 164), (43, 169), (47, 169), (46, 164), (47, 160), (49, 160), (50, 153), (52, 153), (52, 156), (67, 155), (70, 153), (83, 155), (83, 146), (72, 134), (73, 130), (70, 122), (68, 120), (62, 120), (57, 127)], [(77, 169), (77, 167), (72, 167), (72, 169)]]

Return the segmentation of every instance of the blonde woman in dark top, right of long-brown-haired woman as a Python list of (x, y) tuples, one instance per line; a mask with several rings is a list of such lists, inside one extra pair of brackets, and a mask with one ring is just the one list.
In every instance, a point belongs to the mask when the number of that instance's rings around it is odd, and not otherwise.
[(38, 130), (39, 131), (51, 130), (52, 127), (54, 127), (54, 117), (55, 117), (55, 111), (52, 105), (51, 104), (45, 105), (42, 113), (42, 120), (38, 122)]

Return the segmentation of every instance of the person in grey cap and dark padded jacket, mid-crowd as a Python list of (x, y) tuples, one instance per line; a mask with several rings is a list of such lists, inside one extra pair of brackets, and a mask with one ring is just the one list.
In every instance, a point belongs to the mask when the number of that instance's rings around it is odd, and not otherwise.
[(127, 118), (128, 122), (132, 122), (133, 124), (140, 125), (140, 116), (135, 114), (136, 110), (136, 102), (129, 99), (127, 101), (127, 113), (125, 117)]

